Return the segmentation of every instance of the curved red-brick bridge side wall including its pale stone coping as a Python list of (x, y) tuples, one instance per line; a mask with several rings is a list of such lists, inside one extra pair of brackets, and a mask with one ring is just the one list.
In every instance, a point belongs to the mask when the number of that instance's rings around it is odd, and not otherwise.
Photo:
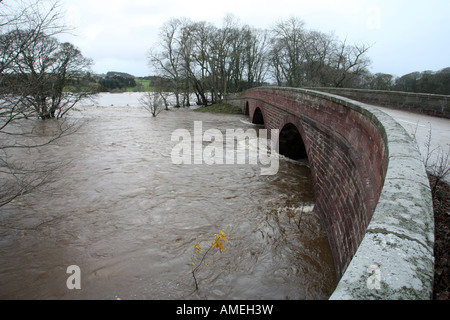
[(256, 88), (240, 99), (251, 120), (280, 132), (292, 124), (303, 139), (340, 279), (331, 299), (430, 299), (431, 192), (406, 131), (375, 107), (313, 90)]

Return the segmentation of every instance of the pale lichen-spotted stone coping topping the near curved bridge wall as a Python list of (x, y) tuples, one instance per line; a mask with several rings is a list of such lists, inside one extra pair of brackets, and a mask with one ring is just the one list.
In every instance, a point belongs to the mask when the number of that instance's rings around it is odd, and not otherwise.
[(431, 299), (433, 203), (415, 142), (392, 117), (368, 104), (308, 89), (276, 89), (332, 100), (351, 108), (368, 117), (385, 140), (388, 166), (377, 207), (330, 299)]

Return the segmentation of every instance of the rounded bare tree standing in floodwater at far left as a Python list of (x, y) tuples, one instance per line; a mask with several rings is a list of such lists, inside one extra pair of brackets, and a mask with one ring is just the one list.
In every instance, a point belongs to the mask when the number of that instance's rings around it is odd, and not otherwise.
[(79, 81), (91, 64), (72, 44), (41, 34), (21, 51), (5, 81), (22, 108), (32, 109), (41, 119), (61, 118), (92, 94), (64, 91), (71, 82)]

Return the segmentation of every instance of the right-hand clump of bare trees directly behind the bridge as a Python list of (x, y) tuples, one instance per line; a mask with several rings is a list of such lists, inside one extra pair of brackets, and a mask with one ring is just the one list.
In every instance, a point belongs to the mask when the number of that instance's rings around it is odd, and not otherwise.
[(306, 30), (303, 21), (293, 17), (272, 29), (270, 62), (278, 85), (354, 86), (367, 73), (369, 49)]

